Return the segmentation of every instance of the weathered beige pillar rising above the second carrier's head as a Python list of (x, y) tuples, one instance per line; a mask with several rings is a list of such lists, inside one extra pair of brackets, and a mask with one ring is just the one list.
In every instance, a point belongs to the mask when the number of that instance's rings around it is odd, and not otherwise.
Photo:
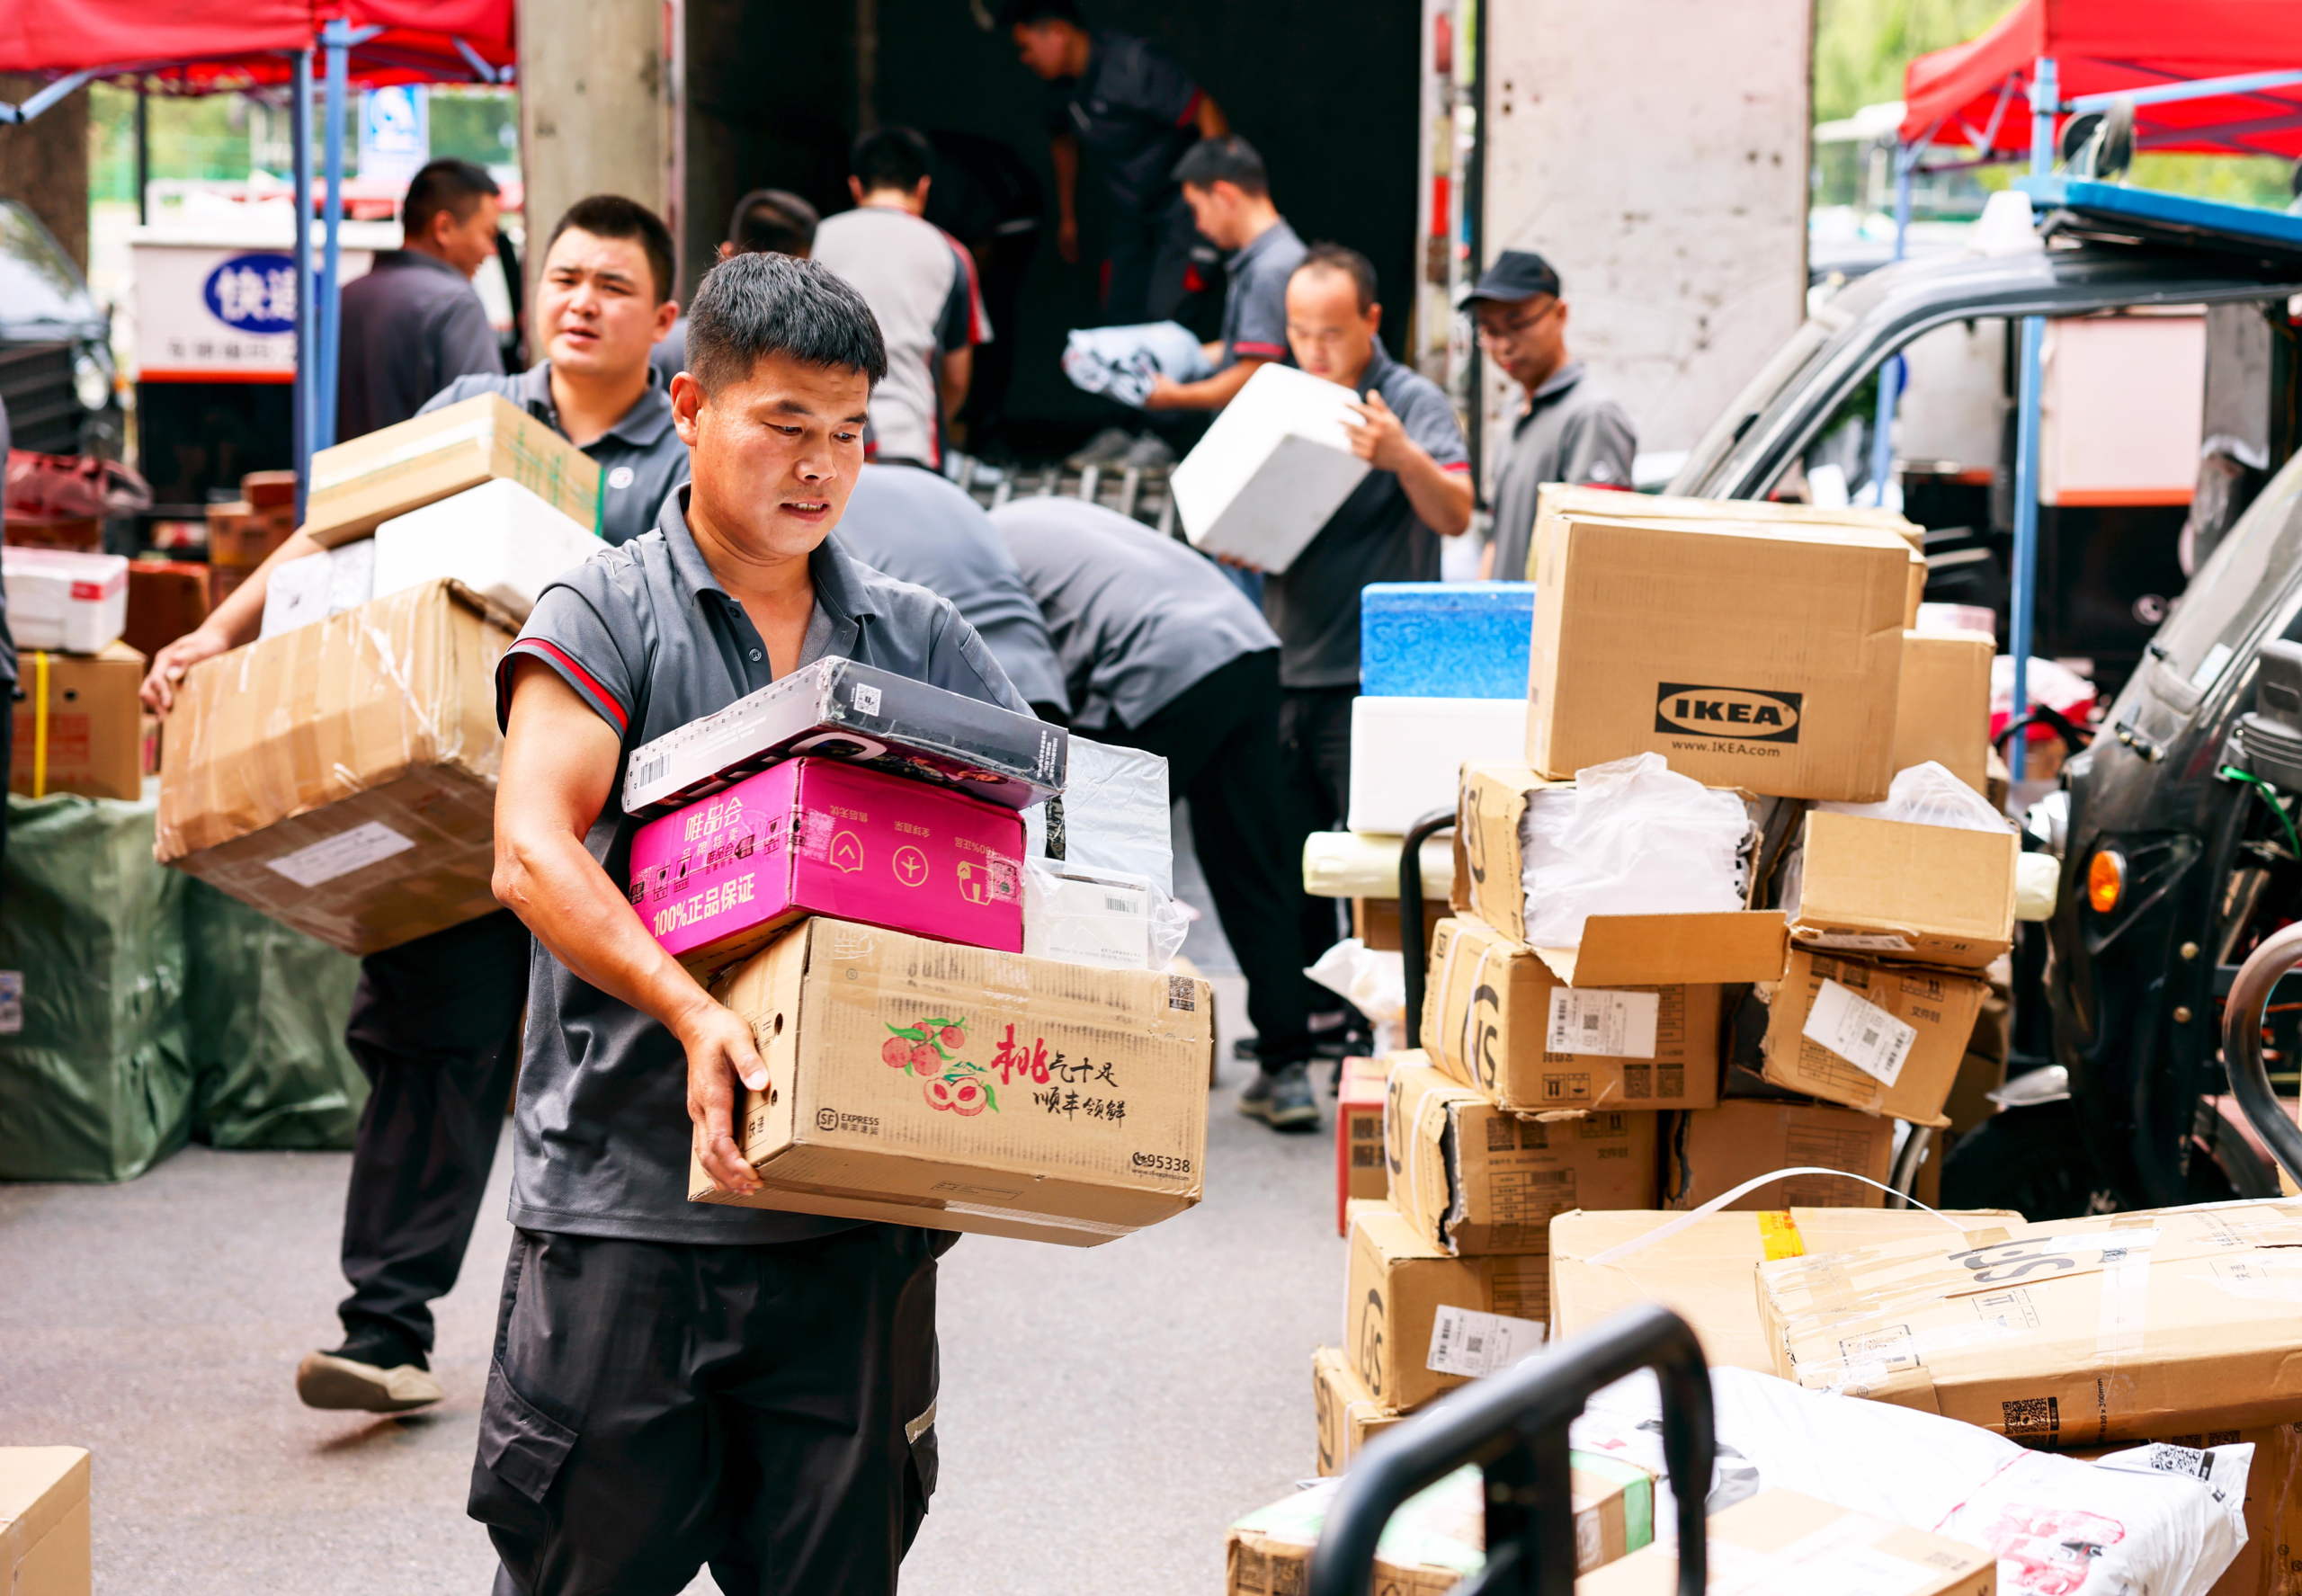
[(520, 0), (520, 170), (527, 281), (543, 240), (587, 193), (622, 193), (681, 235), (665, 60), (679, 0)]

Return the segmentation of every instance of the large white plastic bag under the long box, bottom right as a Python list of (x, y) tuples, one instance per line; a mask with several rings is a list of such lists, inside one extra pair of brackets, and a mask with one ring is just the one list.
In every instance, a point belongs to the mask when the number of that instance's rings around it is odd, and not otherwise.
[[(2035, 1453), (1957, 1419), (1805, 1391), (1747, 1368), (1713, 1368), (1710, 1396), (1717, 1462), (1706, 1511), (1796, 1490), (1987, 1545), (2005, 1596), (2205, 1596), (2247, 1543), (2244, 1490), (2194, 1474)], [(1570, 1435), (1577, 1451), (1662, 1474), (1655, 1377), (1632, 1375), (1593, 1396)], [(1676, 1536), (1676, 1513), (1669, 1479), (1657, 1479), (1655, 1541)]]

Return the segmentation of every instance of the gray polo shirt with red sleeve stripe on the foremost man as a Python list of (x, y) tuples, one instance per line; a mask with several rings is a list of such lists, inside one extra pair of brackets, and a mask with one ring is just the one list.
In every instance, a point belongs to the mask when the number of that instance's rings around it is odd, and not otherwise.
[[(815, 617), (801, 663), (826, 654), (1029, 714), (951, 601), (856, 564), (836, 539), (808, 562)], [(686, 523), (686, 493), (656, 530), (603, 548), (543, 590), (511, 654), (541, 659), (631, 751), (773, 679), (767, 645)], [(511, 654), (497, 672), (509, 712)], [(585, 848), (622, 889), (640, 829), (615, 797)], [(679, 1041), (578, 981), (543, 944), (527, 974), (527, 1039), (511, 1112), (511, 1223), (633, 1241), (799, 1241), (854, 1221), (688, 1202), (688, 1066)]]

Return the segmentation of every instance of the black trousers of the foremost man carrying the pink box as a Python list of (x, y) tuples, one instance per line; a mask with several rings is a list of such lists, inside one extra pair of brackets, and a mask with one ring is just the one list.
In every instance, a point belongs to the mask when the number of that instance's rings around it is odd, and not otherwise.
[(470, 1513), (495, 1596), (884, 1596), (935, 1492), (935, 1260), (523, 1230)]

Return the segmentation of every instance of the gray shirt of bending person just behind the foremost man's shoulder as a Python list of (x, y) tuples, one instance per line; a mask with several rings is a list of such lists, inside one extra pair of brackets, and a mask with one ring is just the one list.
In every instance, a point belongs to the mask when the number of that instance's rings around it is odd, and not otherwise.
[(833, 537), (898, 583), (951, 599), (1017, 693), (1070, 714), (1047, 622), (990, 516), (967, 493), (916, 465), (866, 465)]

